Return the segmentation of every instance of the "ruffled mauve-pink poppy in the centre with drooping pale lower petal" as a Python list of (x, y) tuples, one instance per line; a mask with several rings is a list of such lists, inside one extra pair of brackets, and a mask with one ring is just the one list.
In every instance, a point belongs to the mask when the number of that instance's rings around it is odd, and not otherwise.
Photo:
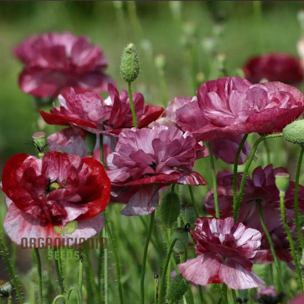
[(121, 213), (153, 212), (159, 200), (158, 190), (165, 185), (206, 185), (204, 178), (192, 171), (195, 147), (191, 133), (174, 127), (159, 125), (121, 132), (115, 152), (107, 159), (112, 197), (127, 203)]

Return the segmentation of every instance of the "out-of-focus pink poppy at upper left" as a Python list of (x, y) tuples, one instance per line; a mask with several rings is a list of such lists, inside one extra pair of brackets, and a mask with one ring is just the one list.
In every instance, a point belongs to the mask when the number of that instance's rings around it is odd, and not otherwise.
[(24, 93), (55, 97), (67, 87), (78, 92), (106, 92), (114, 81), (105, 74), (108, 61), (99, 47), (71, 33), (32, 36), (14, 49), (26, 66), (19, 76)]

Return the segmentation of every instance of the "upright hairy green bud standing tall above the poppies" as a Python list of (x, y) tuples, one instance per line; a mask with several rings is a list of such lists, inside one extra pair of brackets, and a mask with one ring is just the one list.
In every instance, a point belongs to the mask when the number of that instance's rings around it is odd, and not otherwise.
[(123, 80), (128, 83), (134, 81), (139, 74), (139, 58), (133, 43), (129, 43), (123, 50), (120, 74)]

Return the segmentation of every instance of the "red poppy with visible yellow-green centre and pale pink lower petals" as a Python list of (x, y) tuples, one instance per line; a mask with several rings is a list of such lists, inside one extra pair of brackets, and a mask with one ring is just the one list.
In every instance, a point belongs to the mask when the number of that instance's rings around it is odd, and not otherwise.
[(4, 165), (2, 188), (9, 208), (3, 226), (17, 244), (23, 237), (36, 238), (36, 246), (39, 237), (54, 241), (61, 237), (54, 225), (63, 228), (73, 220), (78, 222), (77, 230), (68, 234), (73, 240), (87, 239), (103, 228), (99, 214), (109, 203), (110, 181), (92, 157), (56, 151), (42, 159), (16, 154)]

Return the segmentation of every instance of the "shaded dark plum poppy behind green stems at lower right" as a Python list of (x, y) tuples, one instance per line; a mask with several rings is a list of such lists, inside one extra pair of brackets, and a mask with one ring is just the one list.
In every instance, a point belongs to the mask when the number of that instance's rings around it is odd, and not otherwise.
[[(262, 232), (261, 249), (265, 250), (265, 254), (259, 257), (258, 263), (269, 263), (273, 261), (269, 243), (260, 222), (258, 212), (259, 201), (262, 204), (263, 218), (275, 244), (278, 258), (283, 261), (292, 261), (289, 242), (282, 225), (279, 191), (275, 186), (275, 174), (282, 172), (286, 173), (287, 170), (282, 167), (273, 169), (272, 165), (268, 165), (264, 169), (260, 166), (253, 171), (252, 179), (249, 177), (246, 179), (237, 220), (248, 227)], [(237, 189), (240, 187), (241, 178), (242, 174), (238, 174)], [(223, 217), (232, 216), (233, 173), (230, 171), (219, 172), (217, 175), (217, 185), (220, 215)], [(294, 189), (295, 183), (291, 181), (285, 197), (286, 220), (290, 225), (292, 225), (294, 219)], [(213, 189), (207, 193), (205, 207), (210, 214), (215, 216), (213, 194)], [(304, 187), (301, 185), (299, 186), (299, 211), (304, 212)], [(292, 230), (293, 228), (294, 226), (291, 226)], [(294, 236), (296, 237), (296, 233)]]

